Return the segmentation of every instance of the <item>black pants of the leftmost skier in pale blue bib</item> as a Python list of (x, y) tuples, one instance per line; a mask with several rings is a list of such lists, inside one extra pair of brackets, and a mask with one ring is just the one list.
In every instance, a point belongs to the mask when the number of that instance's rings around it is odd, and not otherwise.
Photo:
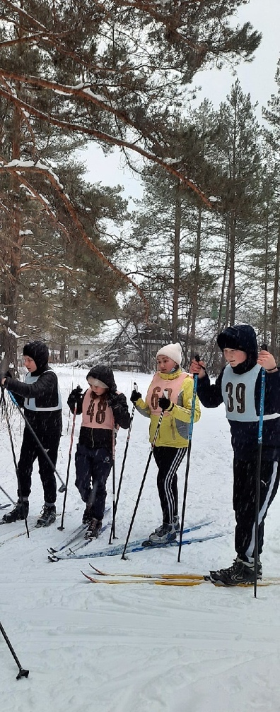
[[(53, 462), (53, 466), (56, 467), (56, 461), (58, 456), (58, 445), (61, 439), (61, 433), (52, 432), (51, 436), (48, 433), (48, 438), (46, 436), (36, 433), (38, 439), (46, 450), (48, 457)], [(56, 476), (53, 472), (53, 468), (48, 463), (46, 456), (43, 454), (41, 448), (36, 443), (31, 431), (26, 426), (24, 428), (24, 437), (21, 444), (21, 454), (19, 456), (18, 471), (19, 471), (19, 483), (21, 485), (21, 494), (24, 498), (28, 498), (31, 493), (31, 474), (33, 470), (33, 464), (35, 460), (38, 460), (38, 469), (41, 477), (41, 483), (43, 485), (43, 496), (45, 502), (48, 504), (54, 504), (56, 502)], [(18, 489), (18, 497), (20, 497), (20, 490)]]

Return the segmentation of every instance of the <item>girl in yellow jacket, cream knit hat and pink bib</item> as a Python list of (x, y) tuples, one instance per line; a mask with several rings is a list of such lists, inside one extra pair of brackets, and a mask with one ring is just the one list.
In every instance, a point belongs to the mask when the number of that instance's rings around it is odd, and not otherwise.
[[(192, 376), (180, 369), (181, 361), (182, 349), (179, 343), (163, 346), (157, 352), (157, 372), (148, 388), (145, 401), (135, 390), (130, 397), (138, 412), (150, 418), (150, 442), (154, 439), (160, 413), (164, 411), (153, 448), (158, 468), (157, 490), (162, 508), (162, 525), (150, 534), (151, 545), (174, 541), (180, 530), (177, 469), (189, 444), (193, 392)], [(199, 418), (199, 400), (196, 398), (195, 423)]]

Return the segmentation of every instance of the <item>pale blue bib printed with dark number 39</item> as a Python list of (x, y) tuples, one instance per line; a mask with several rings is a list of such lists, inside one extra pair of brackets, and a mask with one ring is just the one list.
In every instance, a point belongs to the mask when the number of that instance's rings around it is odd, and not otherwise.
[(222, 397), (229, 420), (256, 422), (259, 416), (255, 407), (256, 379), (261, 366), (256, 364), (247, 373), (234, 373), (229, 364), (222, 376)]

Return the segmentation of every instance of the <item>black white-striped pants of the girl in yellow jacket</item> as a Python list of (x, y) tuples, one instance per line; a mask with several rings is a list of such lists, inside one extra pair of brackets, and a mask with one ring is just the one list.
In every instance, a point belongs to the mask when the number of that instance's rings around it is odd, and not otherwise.
[(177, 469), (180, 466), (187, 448), (154, 447), (157, 473), (157, 490), (162, 508), (162, 521), (172, 524), (173, 517), (178, 513)]

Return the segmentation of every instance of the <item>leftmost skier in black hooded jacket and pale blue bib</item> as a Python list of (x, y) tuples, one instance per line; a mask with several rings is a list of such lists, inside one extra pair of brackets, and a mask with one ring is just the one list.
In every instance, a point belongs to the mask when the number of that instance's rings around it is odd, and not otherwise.
[(14, 394), (20, 407), (24, 405), (24, 415), (48, 452), (53, 468), (26, 425), (18, 463), (19, 501), (9, 514), (4, 515), (2, 522), (9, 524), (27, 517), (31, 473), (33, 463), (38, 459), (45, 501), (36, 526), (48, 527), (56, 521), (56, 476), (53, 470), (62, 431), (61, 394), (56, 374), (48, 365), (48, 347), (43, 341), (31, 341), (24, 346), (24, 365), (28, 370), (25, 382), (7, 376), (1, 379), (1, 385)]

